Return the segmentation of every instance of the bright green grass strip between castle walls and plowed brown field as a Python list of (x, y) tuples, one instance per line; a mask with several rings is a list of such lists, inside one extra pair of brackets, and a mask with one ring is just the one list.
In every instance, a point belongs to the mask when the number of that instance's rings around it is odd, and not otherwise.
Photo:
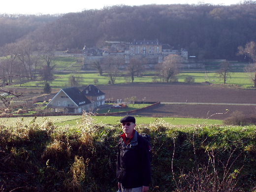
[[(69, 85), (69, 76), (74, 73), (72, 72), (59, 72), (55, 74), (55, 80), (51, 83), (52, 88), (65, 88), (70, 87)], [(103, 76), (99, 76), (96, 72), (76, 72), (76, 75), (81, 78), (80, 85), (89, 85), (94, 84), (94, 79), (98, 79), (97, 85), (106, 85), (108, 84), (108, 77), (106, 74)], [(152, 75), (152, 73), (151, 73)], [(214, 72), (181, 72), (178, 75), (178, 82), (184, 82), (187, 76), (192, 76), (195, 79), (195, 83), (203, 83), (203, 82), (210, 82), (212, 84), (223, 84), (223, 80), (219, 79)], [(134, 83), (149, 83), (153, 82), (153, 75), (150, 76), (149, 74), (142, 76), (142, 77), (135, 77)], [(160, 82), (160, 78), (157, 78), (157, 81)], [(117, 77), (116, 84), (119, 83), (127, 83), (125, 77)], [(251, 78), (245, 72), (235, 72), (231, 74), (231, 78), (227, 78), (226, 85), (237, 85), (239, 87), (247, 88), (253, 86)], [(14, 86), (19, 86), (14, 85)], [(22, 84), (22, 87), (25, 88), (38, 88), (43, 87), (42, 82), (38, 81), (31, 81)]]

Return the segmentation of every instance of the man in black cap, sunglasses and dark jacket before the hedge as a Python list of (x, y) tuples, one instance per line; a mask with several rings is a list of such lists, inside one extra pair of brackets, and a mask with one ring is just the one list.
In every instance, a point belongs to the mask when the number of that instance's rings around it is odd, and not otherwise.
[(120, 122), (124, 134), (118, 142), (118, 188), (122, 192), (147, 192), (151, 182), (150, 143), (134, 129), (134, 117), (126, 116)]

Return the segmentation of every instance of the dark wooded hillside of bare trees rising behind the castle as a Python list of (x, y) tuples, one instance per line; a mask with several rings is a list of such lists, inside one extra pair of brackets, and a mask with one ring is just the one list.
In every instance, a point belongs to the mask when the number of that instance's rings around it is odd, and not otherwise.
[[(4, 43), (3, 37), (14, 41), (9, 35), (25, 36), (38, 24), (36, 20), (26, 22), (23, 30), (14, 22), (16, 28), (10, 27), (11, 33), (2, 31), (0, 45)], [(82, 49), (85, 44), (100, 47), (105, 40), (159, 39), (175, 49), (186, 48), (189, 56), (198, 59), (238, 60), (237, 47), (255, 41), (255, 31), (256, 1), (245, 1), (229, 6), (152, 4), (85, 10), (65, 14), (52, 22), (41, 22), (29, 37), (34, 42), (54, 43), (59, 50)]]

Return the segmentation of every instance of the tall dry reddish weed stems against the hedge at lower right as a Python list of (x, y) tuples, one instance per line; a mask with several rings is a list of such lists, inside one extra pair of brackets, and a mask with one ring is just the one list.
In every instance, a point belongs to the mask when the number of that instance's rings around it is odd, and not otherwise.
[[(241, 153), (234, 157), (236, 149), (229, 152), (229, 157), (226, 162), (219, 160), (219, 153), (215, 152), (213, 148), (206, 148), (205, 153), (208, 157), (208, 163), (204, 164), (198, 161), (196, 157), (195, 142), (193, 137), (193, 153), (194, 153), (194, 166), (191, 170), (184, 171), (181, 169), (179, 175), (174, 171), (173, 180), (176, 184), (175, 192), (242, 192), (237, 187), (238, 176), (240, 174), (241, 166), (239, 169), (234, 169), (233, 164), (239, 158)], [(226, 151), (226, 149), (224, 149)], [(175, 154), (175, 142), (174, 152)], [(172, 166), (173, 166), (172, 158)]]

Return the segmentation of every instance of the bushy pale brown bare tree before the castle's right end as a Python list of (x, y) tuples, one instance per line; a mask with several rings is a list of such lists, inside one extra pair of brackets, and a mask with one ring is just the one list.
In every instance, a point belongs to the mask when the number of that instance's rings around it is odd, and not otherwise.
[(175, 79), (176, 74), (178, 74), (178, 65), (181, 61), (182, 58), (178, 55), (168, 55), (163, 59), (160, 74), (166, 79), (166, 82)]

